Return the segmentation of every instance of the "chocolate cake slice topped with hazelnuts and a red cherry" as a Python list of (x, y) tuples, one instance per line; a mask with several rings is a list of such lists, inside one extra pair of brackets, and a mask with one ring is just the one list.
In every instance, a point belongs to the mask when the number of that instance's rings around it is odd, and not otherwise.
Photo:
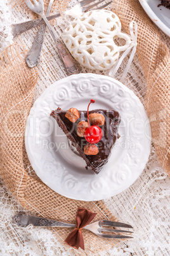
[[(92, 126), (88, 124), (88, 113)], [(119, 138), (117, 132), (121, 122), (119, 113), (114, 110), (98, 109), (88, 112), (78, 111), (76, 108), (70, 108), (68, 111), (58, 108), (51, 112), (51, 117), (55, 118), (59, 127), (79, 152), (79, 155), (86, 161), (87, 167), (91, 167), (98, 174), (104, 164), (107, 163), (115, 140), (117, 137)], [(88, 129), (92, 131), (93, 128), (101, 128), (101, 132), (100, 138), (92, 138), (91, 141), (91, 134), (87, 132)], [(95, 132), (93, 133), (95, 134)], [(98, 135), (96, 136), (98, 137)], [(98, 141), (99, 139), (100, 141)]]

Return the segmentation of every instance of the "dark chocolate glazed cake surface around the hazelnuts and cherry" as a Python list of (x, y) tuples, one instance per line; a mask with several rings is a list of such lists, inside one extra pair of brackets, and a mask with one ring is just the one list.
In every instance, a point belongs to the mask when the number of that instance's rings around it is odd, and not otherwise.
[(105, 117), (105, 124), (100, 126), (103, 132), (103, 137), (96, 143), (96, 146), (98, 146), (99, 149), (97, 155), (85, 155), (83, 150), (88, 141), (86, 141), (84, 137), (79, 137), (77, 135), (77, 124), (81, 121), (88, 122), (87, 111), (79, 111), (80, 117), (74, 124), (65, 117), (66, 113), (67, 111), (58, 108), (51, 112), (51, 117), (55, 118), (58, 125), (72, 142), (72, 145), (75, 146), (81, 157), (86, 160), (87, 166), (91, 167), (95, 173), (99, 173), (103, 165), (108, 161), (115, 140), (119, 138), (119, 134), (117, 133), (119, 123), (121, 122), (119, 113), (114, 110), (100, 109), (89, 111), (89, 114), (100, 113)]

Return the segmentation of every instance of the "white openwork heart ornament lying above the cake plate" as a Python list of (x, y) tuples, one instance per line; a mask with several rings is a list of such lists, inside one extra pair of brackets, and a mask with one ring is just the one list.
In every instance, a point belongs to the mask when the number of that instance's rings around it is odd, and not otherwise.
[[(119, 38), (124, 39), (124, 45), (115, 43)], [(108, 10), (88, 11), (75, 18), (63, 32), (62, 39), (82, 66), (98, 70), (112, 68), (120, 52), (134, 46), (131, 36), (121, 32), (117, 15)]]

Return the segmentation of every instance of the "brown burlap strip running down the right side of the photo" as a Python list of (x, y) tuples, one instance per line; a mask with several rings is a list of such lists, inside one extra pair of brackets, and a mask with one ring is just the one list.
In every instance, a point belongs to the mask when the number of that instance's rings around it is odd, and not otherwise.
[(150, 118), (152, 139), (160, 163), (170, 175), (170, 62), (169, 50), (162, 43), (159, 31), (148, 18), (138, 0), (115, 0), (113, 11), (129, 32), (132, 20), (138, 24), (140, 59), (147, 80), (147, 113)]

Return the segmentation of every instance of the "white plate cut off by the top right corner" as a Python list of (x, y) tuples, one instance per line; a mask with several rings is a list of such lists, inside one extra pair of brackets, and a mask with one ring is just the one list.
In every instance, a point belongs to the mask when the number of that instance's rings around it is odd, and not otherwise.
[(159, 0), (139, 0), (148, 17), (170, 37), (170, 10), (164, 6), (157, 7)]

